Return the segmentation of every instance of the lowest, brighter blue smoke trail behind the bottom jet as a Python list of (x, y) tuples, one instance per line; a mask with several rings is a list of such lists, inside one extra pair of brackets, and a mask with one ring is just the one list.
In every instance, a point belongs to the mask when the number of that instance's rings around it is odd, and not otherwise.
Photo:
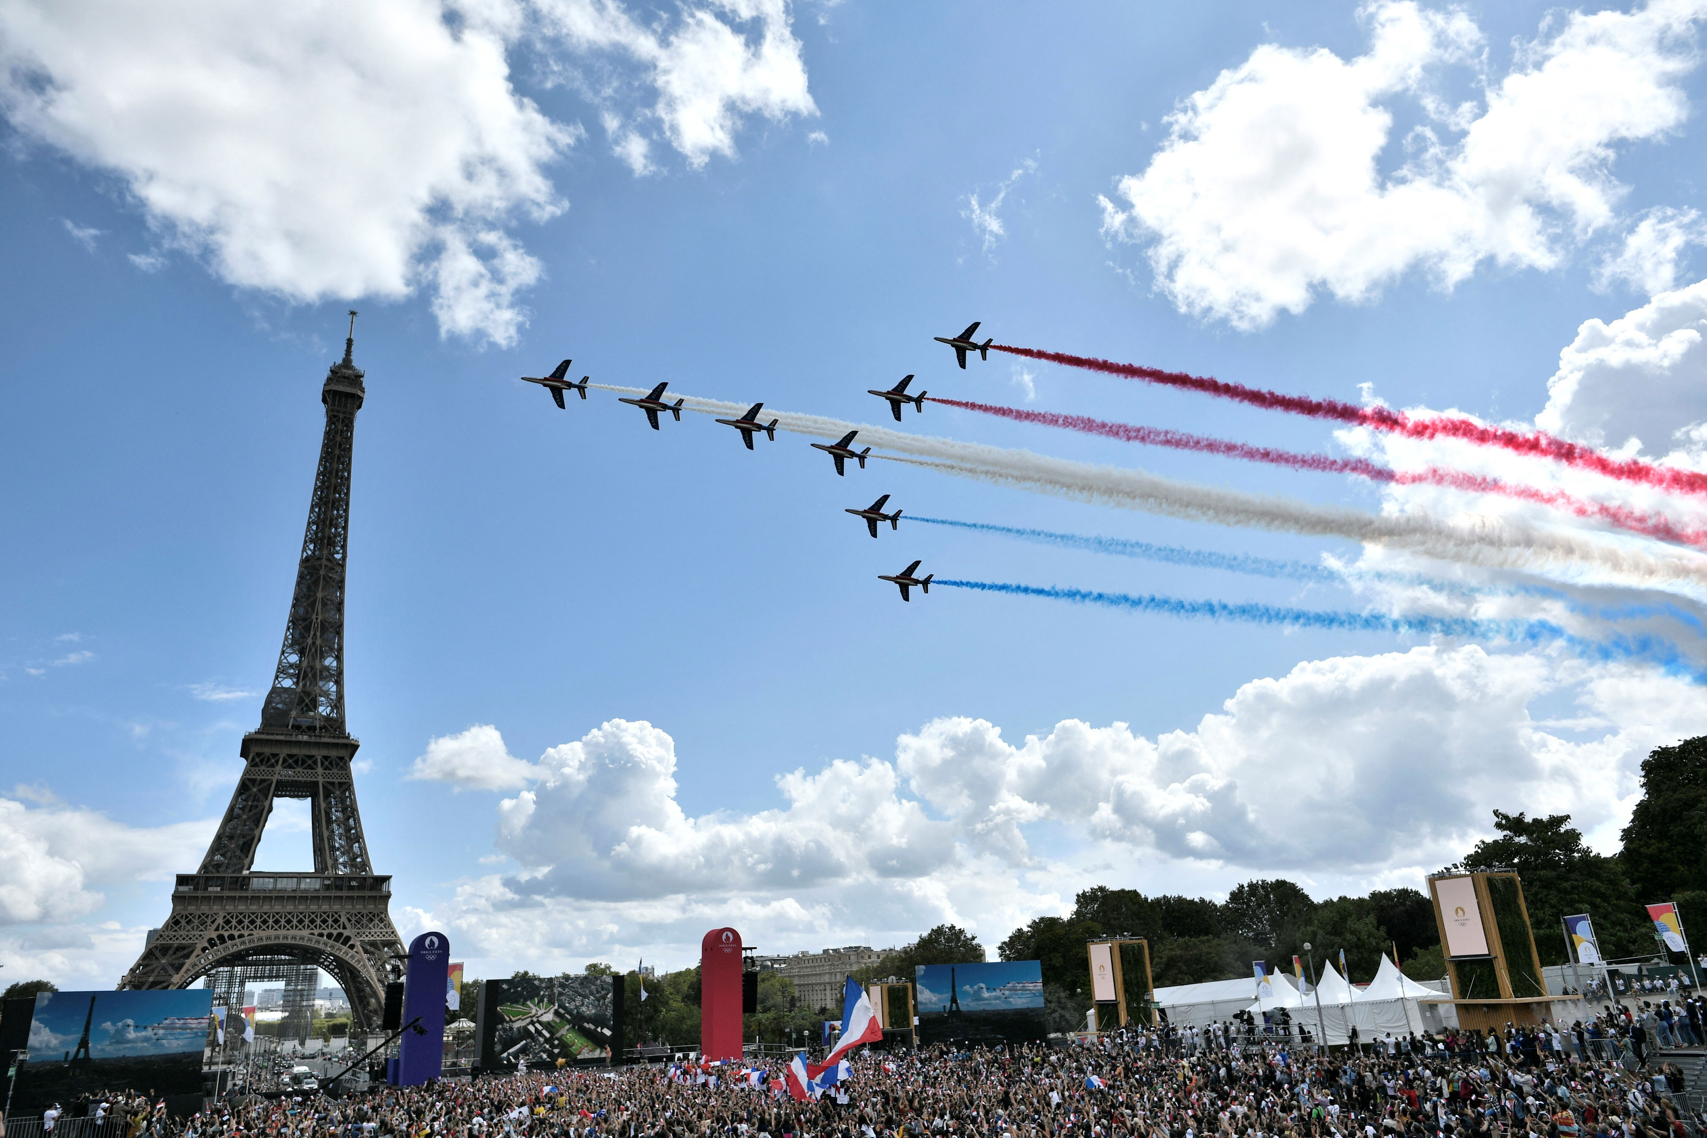
[(939, 577), (934, 585), (973, 589), (976, 592), (1005, 592), (1017, 597), (1046, 597), (1070, 604), (1101, 604), (1132, 613), (1161, 613), (1180, 618), (1207, 618), (1212, 621), (1243, 621), (1246, 624), (1279, 624), (1289, 628), (1325, 628), (1333, 631), (1410, 633), (1429, 636), (1459, 636), (1466, 640), (1506, 640), (1521, 645), (1562, 643), (1577, 655), (1603, 664), (1640, 660), (1683, 676), (1690, 682), (1707, 684), (1707, 672), (1687, 660), (1668, 640), (1657, 636), (1613, 636), (1611, 640), (1586, 640), (1567, 633), (1552, 621), (1487, 621), (1463, 616), (1384, 616), (1381, 613), (1350, 613), (1294, 609), (1275, 604), (1226, 601), (1186, 601), (1154, 594), (1098, 592), (1091, 589), (1058, 589), (1055, 585), (1009, 585), (987, 580), (953, 580)]

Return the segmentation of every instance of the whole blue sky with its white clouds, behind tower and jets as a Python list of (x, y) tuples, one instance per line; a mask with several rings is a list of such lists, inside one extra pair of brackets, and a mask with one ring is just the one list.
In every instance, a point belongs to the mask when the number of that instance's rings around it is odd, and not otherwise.
[[(1092, 884), (1420, 882), (1490, 809), (1605, 848), (1678, 669), (1555, 645), (1069, 606), (944, 578), (1649, 633), (1698, 662), (1695, 553), (1543, 507), (1152, 450), (941, 404), (901, 425), (1359, 515), (1569, 543), (1446, 556), (1089, 505), (575, 375), (894, 423), (869, 387), (1446, 464), (1698, 524), (1687, 498), (932, 336), (1458, 408), (1700, 467), (1690, 3), (0, 0), (0, 962), (109, 984), (258, 723), (343, 312), (362, 311), (348, 720), (405, 938), (469, 976), (993, 947)], [(1393, 568), (1268, 580), (843, 514)], [(1279, 508), (1279, 507), (1277, 507)], [(1285, 507), (1290, 508), (1290, 507)], [(1490, 549), (1494, 549), (1490, 553)], [(1436, 551), (1439, 553), (1439, 551)], [(1610, 560), (1622, 556), (1627, 566)], [(1620, 563), (1622, 565), (1622, 563)], [(1656, 570), (1659, 565), (1664, 572)], [(1632, 568), (1634, 566), (1634, 568)], [(1646, 568), (1644, 568), (1646, 566)], [(1560, 597), (1512, 592), (1543, 584)], [(1687, 667), (1683, 671), (1688, 671)], [(258, 868), (307, 865), (282, 805)]]

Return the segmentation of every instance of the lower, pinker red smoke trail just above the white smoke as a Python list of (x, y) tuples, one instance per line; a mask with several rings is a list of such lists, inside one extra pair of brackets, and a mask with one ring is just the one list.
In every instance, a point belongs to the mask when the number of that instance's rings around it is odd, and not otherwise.
[(1022, 408), (1004, 408), (992, 403), (966, 403), (964, 399), (939, 399), (935, 396), (927, 396), (930, 403), (941, 403), (951, 408), (961, 408), (964, 411), (980, 411), (983, 415), (995, 415), (997, 418), (1007, 418), (1019, 423), (1041, 423), (1043, 427), (1060, 427), (1065, 430), (1077, 430), (1086, 435), (1101, 435), (1103, 438), (1120, 438), (1121, 442), (1140, 442), (1152, 447), (1171, 447), (1174, 450), (1197, 450), (1200, 454), (1219, 454), (1229, 459), (1244, 459), (1246, 462), (1268, 462), (1270, 466), (1289, 466), (1294, 471), (1316, 471), (1320, 474), (1355, 474), (1357, 478), (1367, 478), (1378, 483), (1393, 483), (1396, 486), (1446, 486), (1448, 490), (1465, 490), (1470, 493), (1490, 493), (1502, 495), (1506, 498), (1518, 498), (1521, 502), (1536, 502), (1540, 505), (1553, 507), (1555, 510), (1565, 510), (1567, 514), (1576, 514), (1577, 517), (1596, 519), (1601, 522), (1610, 522), (1620, 529), (1627, 529), (1634, 534), (1644, 534), (1647, 537), (1657, 537), (1659, 541), (1671, 541), (1683, 546), (1695, 546), (1707, 549), (1707, 531), (1690, 531), (1680, 529), (1669, 519), (1642, 514), (1622, 505), (1606, 505), (1601, 502), (1589, 502), (1588, 498), (1577, 498), (1574, 495), (1560, 493), (1555, 490), (1536, 490), (1533, 486), (1514, 486), (1512, 483), (1502, 483), (1497, 478), (1485, 478), (1482, 474), (1468, 474), (1465, 471), (1449, 471), (1437, 466), (1430, 466), (1422, 471), (1393, 471), (1384, 466), (1376, 466), (1369, 459), (1331, 459), (1325, 454), (1297, 454), (1296, 450), (1275, 450), (1273, 447), (1251, 447), (1243, 442), (1231, 442), (1227, 438), (1207, 438), (1203, 435), (1188, 435), (1178, 430), (1162, 430), (1159, 427), (1135, 427), (1132, 423), (1108, 423), (1104, 420), (1089, 418), (1086, 415), (1062, 415), (1058, 411), (1026, 411)]

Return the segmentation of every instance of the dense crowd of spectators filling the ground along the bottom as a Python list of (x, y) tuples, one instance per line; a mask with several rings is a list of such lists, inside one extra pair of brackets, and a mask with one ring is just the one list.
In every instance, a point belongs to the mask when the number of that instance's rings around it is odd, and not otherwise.
[(111, 1138), (1707, 1138), (1678, 1065), (1639, 1061), (1642, 1019), (1323, 1053), (1239, 1024), (864, 1053), (818, 1100), (773, 1061), (244, 1094), (186, 1119), (125, 1095), (94, 1109), (123, 1119)]

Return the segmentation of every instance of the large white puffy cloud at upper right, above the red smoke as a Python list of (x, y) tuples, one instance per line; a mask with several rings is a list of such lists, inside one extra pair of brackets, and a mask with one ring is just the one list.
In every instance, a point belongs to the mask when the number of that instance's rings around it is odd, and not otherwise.
[[(1120, 203), (1101, 200), (1104, 234), (1147, 246), (1183, 312), (1244, 329), (1412, 270), (1451, 288), (1483, 261), (1553, 268), (1617, 220), (1615, 147), (1681, 126), (1704, 12), (1567, 14), (1480, 102), (1448, 106), (1437, 82), (1483, 63), (1480, 29), (1458, 9), (1371, 3), (1366, 55), (1265, 44), (1185, 99)], [(1422, 123), (1383, 171), (1396, 107)]]

